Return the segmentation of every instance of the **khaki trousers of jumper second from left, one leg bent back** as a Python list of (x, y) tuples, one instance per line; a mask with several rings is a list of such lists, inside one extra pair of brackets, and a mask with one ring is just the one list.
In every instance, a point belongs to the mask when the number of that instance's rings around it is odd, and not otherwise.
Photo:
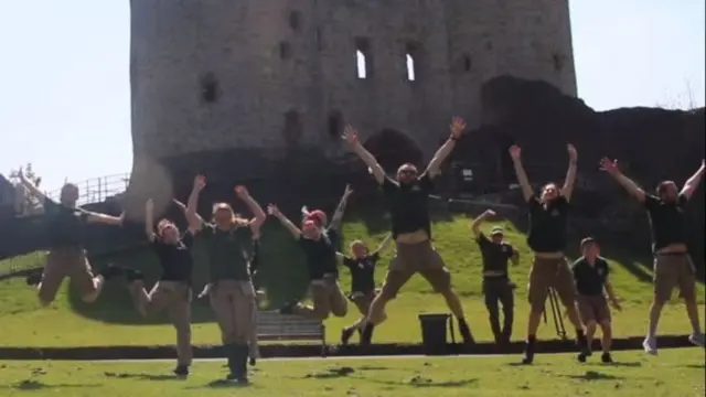
[(141, 280), (130, 285), (130, 293), (137, 310), (143, 316), (156, 314), (164, 309), (169, 312), (172, 325), (176, 330), (176, 355), (180, 365), (191, 365), (191, 287), (180, 281), (157, 281), (148, 293)]

